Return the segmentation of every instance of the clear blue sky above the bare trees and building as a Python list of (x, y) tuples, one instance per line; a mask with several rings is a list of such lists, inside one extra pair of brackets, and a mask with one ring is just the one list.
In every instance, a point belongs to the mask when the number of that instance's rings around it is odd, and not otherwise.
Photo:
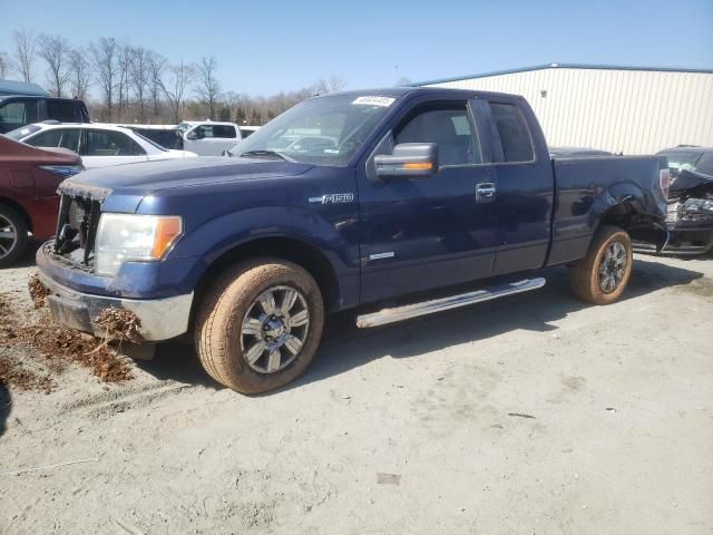
[(713, 0), (0, 0), (0, 51), (20, 26), (74, 46), (114, 37), (174, 62), (214, 56), (223, 89), (251, 95), (550, 62), (713, 69)]

